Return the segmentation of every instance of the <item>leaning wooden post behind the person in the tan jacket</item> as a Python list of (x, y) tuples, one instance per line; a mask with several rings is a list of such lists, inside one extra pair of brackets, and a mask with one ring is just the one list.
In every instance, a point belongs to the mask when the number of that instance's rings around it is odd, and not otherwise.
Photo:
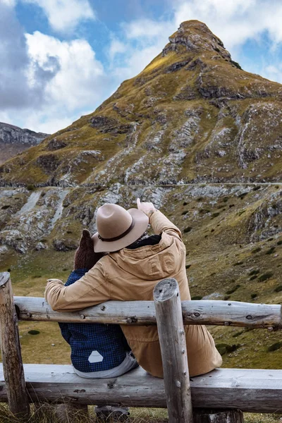
[(173, 278), (154, 288), (164, 388), (169, 423), (193, 423), (188, 358), (178, 283)]

